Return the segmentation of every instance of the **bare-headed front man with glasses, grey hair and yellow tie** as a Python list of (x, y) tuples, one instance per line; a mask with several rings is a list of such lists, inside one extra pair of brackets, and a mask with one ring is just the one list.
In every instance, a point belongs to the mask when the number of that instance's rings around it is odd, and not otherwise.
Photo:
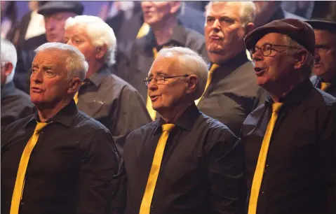
[(207, 73), (204, 59), (189, 48), (159, 51), (145, 85), (161, 117), (126, 140), (125, 213), (244, 213), (241, 143), (194, 103)]

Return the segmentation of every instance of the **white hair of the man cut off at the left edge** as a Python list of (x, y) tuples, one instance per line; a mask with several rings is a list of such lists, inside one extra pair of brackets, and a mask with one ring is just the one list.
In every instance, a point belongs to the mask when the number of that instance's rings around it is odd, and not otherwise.
[(13, 65), (12, 72), (6, 78), (6, 83), (11, 83), (14, 78), (16, 62), (18, 62), (18, 56), (16, 55), (16, 49), (14, 45), (10, 41), (1, 38), (1, 66), (4, 66), (7, 62), (11, 62), (11, 64)]

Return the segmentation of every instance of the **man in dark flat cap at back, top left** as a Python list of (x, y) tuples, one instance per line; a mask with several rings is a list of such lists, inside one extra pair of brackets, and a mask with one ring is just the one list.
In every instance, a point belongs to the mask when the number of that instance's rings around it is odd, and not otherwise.
[(82, 15), (84, 6), (80, 1), (48, 1), (37, 13), (44, 16), (46, 34), (29, 38), (18, 47), (18, 65), (14, 82), (20, 90), (29, 94), (29, 69), (35, 56), (34, 50), (44, 43), (64, 43), (65, 20)]

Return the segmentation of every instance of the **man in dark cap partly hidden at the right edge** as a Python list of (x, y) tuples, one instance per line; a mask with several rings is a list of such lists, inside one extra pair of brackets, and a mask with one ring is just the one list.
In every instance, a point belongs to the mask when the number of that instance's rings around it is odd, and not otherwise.
[(336, 97), (336, 23), (310, 20), (315, 32), (315, 64), (311, 82)]

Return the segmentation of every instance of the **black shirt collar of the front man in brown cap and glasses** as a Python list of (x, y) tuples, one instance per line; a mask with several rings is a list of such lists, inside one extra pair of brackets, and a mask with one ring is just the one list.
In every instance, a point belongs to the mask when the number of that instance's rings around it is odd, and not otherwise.
[[(299, 104), (312, 89), (314, 89), (314, 86), (309, 78), (307, 78), (306, 80), (303, 80), (300, 85), (297, 85), (297, 87), (293, 88), (293, 90), (288, 92), (288, 94), (286, 94), (284, 97), (281, 97), (281, 99), (279, 99), (279, 102), (284, 103), (285, 105)], [(269, 94), (267, 95), (265, 102), (267, 106), (274, 103)]]

